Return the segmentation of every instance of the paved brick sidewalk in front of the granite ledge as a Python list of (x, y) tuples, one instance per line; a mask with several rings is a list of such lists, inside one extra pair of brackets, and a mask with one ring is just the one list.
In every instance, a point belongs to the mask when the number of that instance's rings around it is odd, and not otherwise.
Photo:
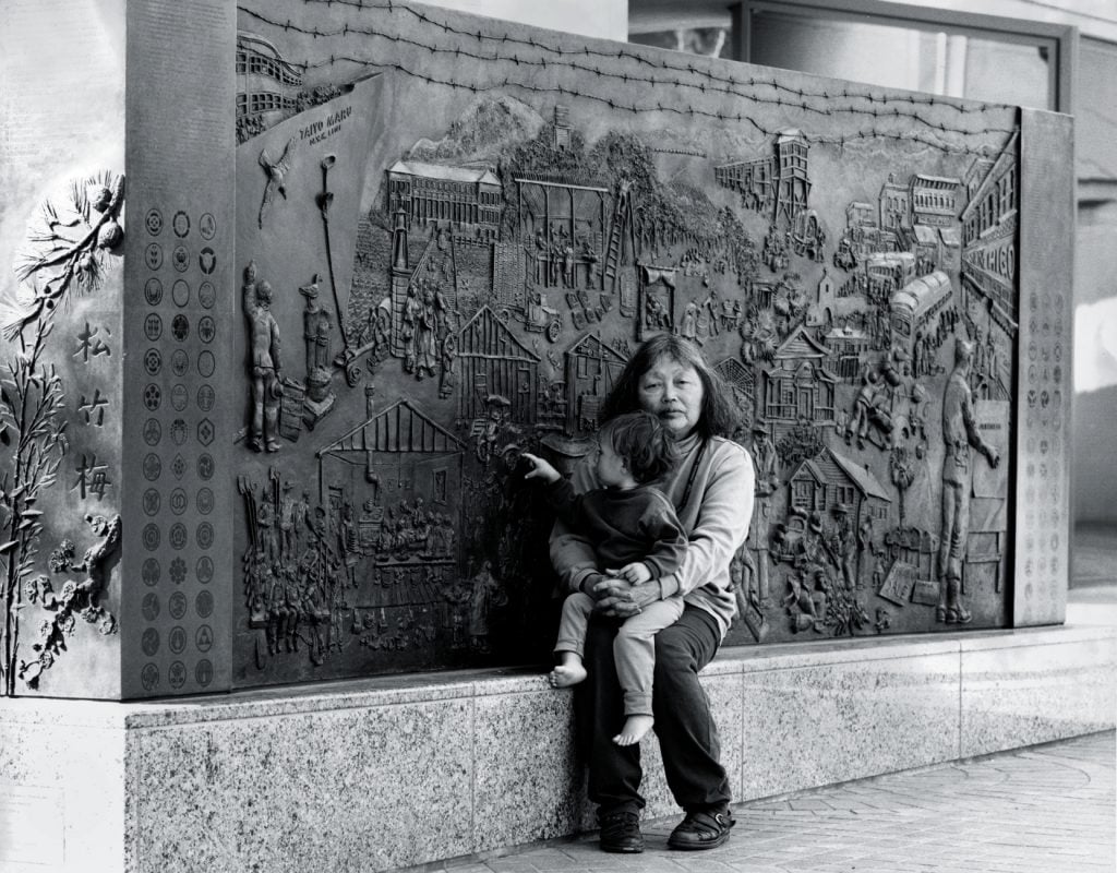
[(1018, 749), (739, 804), (732, 839), (672, 852), (677, 819), (645, 823), (647, 851), (595, 837), (427, 870), (455, 873), (1114, 873), (1115, 734)]

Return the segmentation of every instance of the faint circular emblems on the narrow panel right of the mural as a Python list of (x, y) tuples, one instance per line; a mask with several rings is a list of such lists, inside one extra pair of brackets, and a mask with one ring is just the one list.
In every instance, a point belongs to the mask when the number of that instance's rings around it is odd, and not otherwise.
[(1037, 583), (1065, 572), (1063, 447), (1068, 396), (1066, 300), (1062, 293), (1035, 294), (1029, 300), (1028, 351), (1023, 362), (1025, 401), (1024, 459), (1024, 596), (1031, 600)]

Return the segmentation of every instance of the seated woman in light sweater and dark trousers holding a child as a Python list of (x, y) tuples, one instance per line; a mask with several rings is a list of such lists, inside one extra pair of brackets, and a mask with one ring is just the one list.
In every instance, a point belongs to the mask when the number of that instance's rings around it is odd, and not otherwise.
[[(671, 832), (672, 848), (725, 843), (734, 819), (729, 781), (720, 763), (717, 728), (698, 672), (709, 663), (736, 611), (729, 563), (745, 541), (753, 511), (754, 473), (744, 448), (727, 439), (736, 412), (720, 379), (690, 342), (659, 334), (629, 361), (602, 407), (602, 419), (643, 409), (670, 430), (680, 461), (659, 484), (688, 535), (679, 569), (641, 585), (601, 579), (594, 551), (561, 523), (551, 535), (551, 560), (570, 591), (596, 600), (585, 645), (589, 675), (576, 686), (579, 738), (590, 767), (590, 799), (598, 804), (601, 848), (642, 852), (640, 747), (613, 742), (624, 722), (613, 662), (618, 619), (656, 600), (682, 594), (679, 619), (656, 635), (652, 711), (663, 770), (686, 817)], [(593, 467), (574, 472), (574, 487), (598, 487)]]

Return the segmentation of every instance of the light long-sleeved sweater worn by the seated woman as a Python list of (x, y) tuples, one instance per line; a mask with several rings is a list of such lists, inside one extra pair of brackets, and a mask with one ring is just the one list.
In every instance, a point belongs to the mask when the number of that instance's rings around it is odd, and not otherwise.
[[(701, 438), (693, 435), (679, 440), (678, 448), (679, 463), (657, 485), (675, 505), (688, 543), (679, 569), (659, 580), (660, 596), (681, 594), (685, 602), (714, 616), (724, 637), (737, 609), (729, 562), (753, 516), (753, 462), (744, 448), (722, 437), (707, 440), (704, 449)], [(599, 487), (585, 461), (572, 482), (579, 492)], [(581, 590), (596, 573), (593, 544), (562, 522), (551, 534), (551, 562), (569, 591)]]

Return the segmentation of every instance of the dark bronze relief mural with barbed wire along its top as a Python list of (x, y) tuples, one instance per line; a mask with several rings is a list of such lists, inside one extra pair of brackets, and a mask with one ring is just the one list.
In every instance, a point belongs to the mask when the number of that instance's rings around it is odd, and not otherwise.
[(1005, 623), (1012, 110), (317, 6), (240, 10), (238, 681), (545, 658), (519, 455), (660, 331), (756, 464), (731, 642)]

